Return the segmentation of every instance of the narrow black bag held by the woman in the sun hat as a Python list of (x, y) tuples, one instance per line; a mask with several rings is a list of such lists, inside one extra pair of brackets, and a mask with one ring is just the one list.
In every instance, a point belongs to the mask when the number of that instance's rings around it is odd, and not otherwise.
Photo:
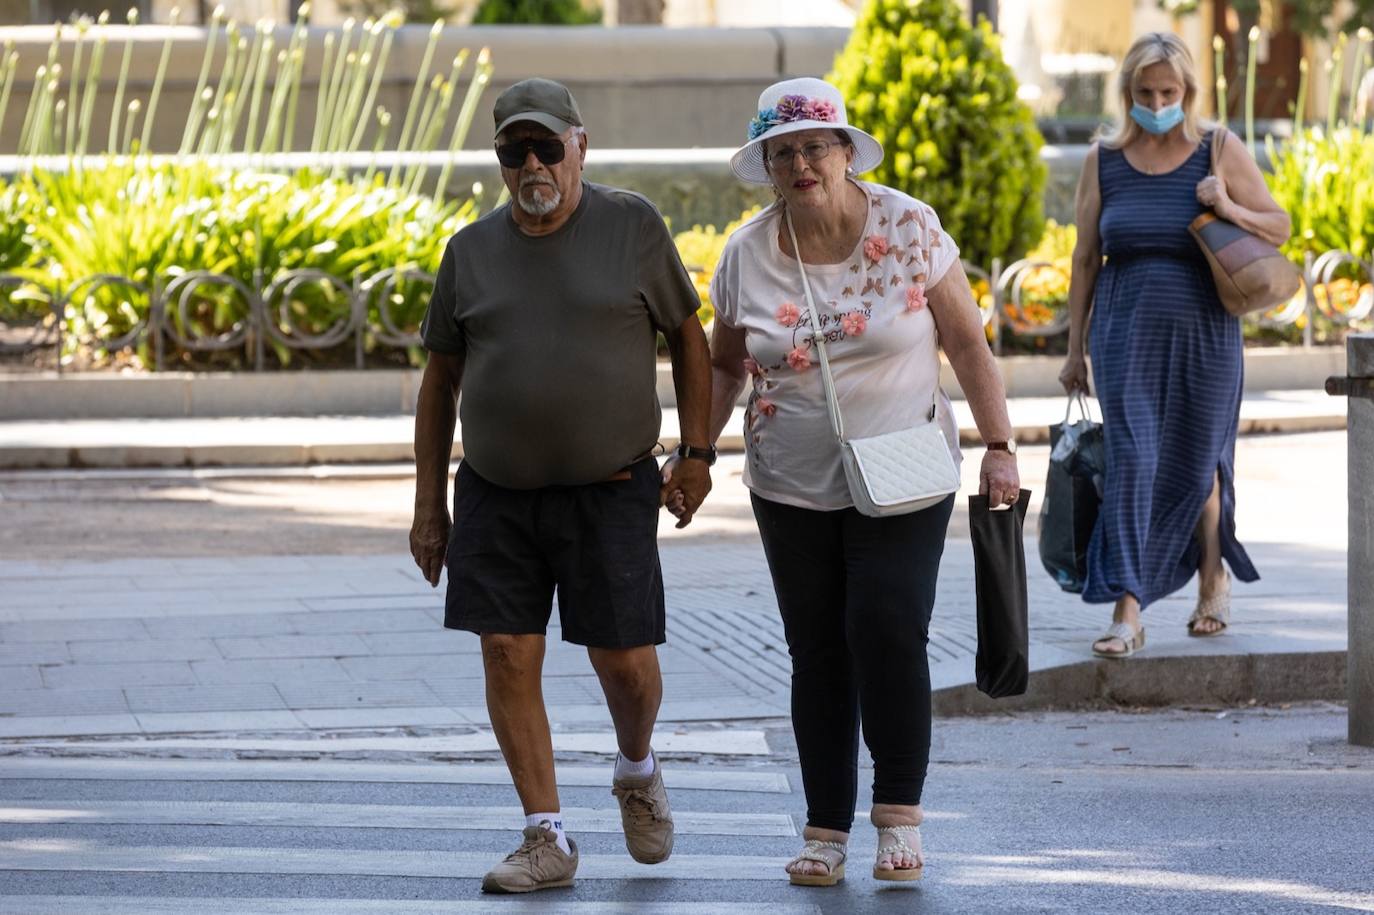
[(973, 580), (978, 592), (978, 690), (993, 699), (1021, 695), (1030, 679), (1026, 551), (1021, 529), (1030, 490), (1010, 508), (992, 511), (987, 496), (969, 496)]

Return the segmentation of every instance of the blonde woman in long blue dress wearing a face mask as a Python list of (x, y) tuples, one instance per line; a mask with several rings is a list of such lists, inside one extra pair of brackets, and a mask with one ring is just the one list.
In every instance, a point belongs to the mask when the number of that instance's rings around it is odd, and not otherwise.
[(1287, 214), (1234, 135), (1224, 135), (1212, 174), (1216, 125), (1197, 114), (1193, 56), (1176, 36), (1138, 38), (1118, 88), (1125, 117), (1088, 151), (1079, 180), (1069, 359), (1059, 374), (1066, 390), (1087, 390), (1087, 346), (1107, 474), (1083, 599), (1116, 605), (1092, 644), (1102, 658), (1145, 647), (1140, 611), (1194, 573), (1194, 636), (1230, 624), (1223, 559), (1241, 581), (1259, 578), (1235, 537), (1241, 321), (1221, 308), (1187, 227), (1212, 209), (1274, 245), (1289, 235)]

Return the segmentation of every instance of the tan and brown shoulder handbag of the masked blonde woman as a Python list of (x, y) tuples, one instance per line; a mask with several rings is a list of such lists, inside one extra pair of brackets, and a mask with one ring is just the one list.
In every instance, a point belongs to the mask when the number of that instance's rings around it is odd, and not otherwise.
[[(1212, 174), (1219, 173), (1227, 136), (1226, 128), (1212, 133)], [(1282, 305), (1303, 284), (1297, 268), (1276, 247), (1210, 210), (1193, 220), (1189, 234), (1212, 267), (1221, 305), (1237, 317)]]

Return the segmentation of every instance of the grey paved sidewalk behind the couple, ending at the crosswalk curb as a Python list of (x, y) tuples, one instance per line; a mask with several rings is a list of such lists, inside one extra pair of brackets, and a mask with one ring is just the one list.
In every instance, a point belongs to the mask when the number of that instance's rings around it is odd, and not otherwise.
[[(1146, 653), (1094, 661), (1105, 607), (1058, 591), (1028, 522), (1032, 665), (1022, 705), (1231, 703), (1342, 695), (1344, 436), (1243, 441), (1241, 536), (1265, 576), (1237, 585), (1235, 622), (1189, 639), (1190, 587), (1149, 610)], [(1039, 511), (1046, 449), (1022, 456)], [(717, 466), (698, 522), (664, 525), (668, 644), (662, 720), (787, 714), (789, 662), (739, 485)], [(976, 486), (965, 462), (965, 492)], [(977, 647), (971, 548), (956, 515), (932, 629), (937, 708), (1014, 708), (970, 688)], [(111, 552), (136, 554), (137, 532)], [(131, 539), (121, 547), (118, 539)], [(409, 556), (0, 561), (0, 738), (486, 724), (477, 639), (440, 628), (441, 594)], [(556, 622), (556, 615), (555, 615)], [(606, 730), (585, 653), (551, 629), (545, 698), (562, 730)]]

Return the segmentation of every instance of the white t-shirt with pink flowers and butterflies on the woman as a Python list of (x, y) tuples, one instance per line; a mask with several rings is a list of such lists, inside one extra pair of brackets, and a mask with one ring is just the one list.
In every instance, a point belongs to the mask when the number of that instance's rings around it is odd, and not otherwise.
[[(855, 181), (868, 224), (842, 264), (807, 264), (845, 436), (861, 438), (926, 422), (930, 405), (960, 460), (958, 426), (940, 390), (936, 324), (926, 290), (959, 258), (934, 210), (881, 184)], [(830, 427), (820, 357), (797, 261), (783, 254), (782, 205), (739, 227), (710, 283), (716, 320), (742, 328), (753, 393), (745, 411), (743, 482), (789, 506), (853, 504)]]

